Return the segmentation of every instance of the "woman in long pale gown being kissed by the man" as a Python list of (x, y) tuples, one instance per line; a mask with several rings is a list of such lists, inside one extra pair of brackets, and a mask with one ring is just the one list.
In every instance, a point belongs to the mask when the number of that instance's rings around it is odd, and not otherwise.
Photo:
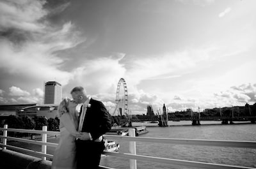
[(76, 130), (79, 120), (76, 116), (77, 104), (70, 99), (63, 99), (58, 107), (60, 119), (60, 142), (52, 159), (52, 169), (76, 169)]

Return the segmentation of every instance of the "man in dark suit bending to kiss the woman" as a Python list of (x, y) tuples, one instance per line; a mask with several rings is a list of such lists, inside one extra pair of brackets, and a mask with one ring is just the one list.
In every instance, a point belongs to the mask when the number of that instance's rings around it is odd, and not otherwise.
[(77, 169), (98, 169), (105, 148), (102, 135), (111, 129), (112, 117), (83, 87), (75, 87), (70, 93), (76, 103), (83, 103), (78, 126), (82, 135), (76, 140)]

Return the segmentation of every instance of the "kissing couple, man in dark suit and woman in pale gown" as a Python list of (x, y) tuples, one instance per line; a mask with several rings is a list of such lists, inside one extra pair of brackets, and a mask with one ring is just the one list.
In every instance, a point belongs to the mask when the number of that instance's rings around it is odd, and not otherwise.
[(102, 135), (111, 129), (112, 117), (83, 87), (74, 87), (70, 94), (73, 99), (63, 99), (58, 107), (60, 142), (52, 169), (98, 169), (105, 148)]

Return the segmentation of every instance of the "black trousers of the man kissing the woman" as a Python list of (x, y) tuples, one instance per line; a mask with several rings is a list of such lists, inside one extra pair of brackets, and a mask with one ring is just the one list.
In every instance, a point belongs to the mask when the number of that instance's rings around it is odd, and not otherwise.
[(77, 169), (98, 169), (104, 142), (91, 140), (76, 140)]

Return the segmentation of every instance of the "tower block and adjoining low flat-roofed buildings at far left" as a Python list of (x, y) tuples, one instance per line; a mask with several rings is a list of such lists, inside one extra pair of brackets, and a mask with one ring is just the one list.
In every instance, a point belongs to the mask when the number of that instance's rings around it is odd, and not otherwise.
[(57, 116), (58, 105), (62, 99), (61, 84), (46, 82), (44, 84), (44, 104), (37, 103), (19, 105), (0, 105), (0, 121), (9, 115), (28, 115), (29, 117), (44, 116), (47, 119)]

